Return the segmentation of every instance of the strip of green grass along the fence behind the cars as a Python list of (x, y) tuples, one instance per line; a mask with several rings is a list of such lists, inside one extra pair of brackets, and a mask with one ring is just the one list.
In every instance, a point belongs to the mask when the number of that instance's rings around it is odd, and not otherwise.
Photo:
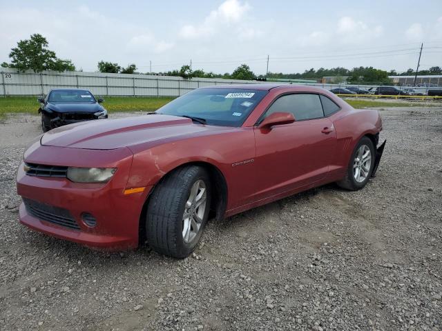
[[(161, 106), (164, 106), (173, 97), (107, 97), (103, 106), (109, 112), (136, 112), (145, 111), (153, 112)], [(422, 103), (416, 102), (392, 102), (392, 101), (378, 101), (378, 100), (363, 100), (363, 99), (346, 99), (354, 108), (372, 108), (372, 107), (415, 107), (423, 106)], [(441, 103), (437, 103), (441, 105)], [(425, 106), (430, 106), (427, 103)], [(436, 105), (434, 105), (436, 106)], [(37, 114), (39, 103), (36, 97), (0, 97), (0, 119), (4, 119), (6, 114), (15, 112), (28, 112), (30, 114)]]

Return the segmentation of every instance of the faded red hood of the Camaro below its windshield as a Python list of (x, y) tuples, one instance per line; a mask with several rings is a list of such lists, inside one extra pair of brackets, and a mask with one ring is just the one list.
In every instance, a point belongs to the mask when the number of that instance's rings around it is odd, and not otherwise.
[(61, 126), (46, 132), (41, 137), (41, 145), (112, 150), (204, 133), (208, 130), (226, 130), (226, 128), (193, 124), (191, 119), (184, 117), (149, 114)]

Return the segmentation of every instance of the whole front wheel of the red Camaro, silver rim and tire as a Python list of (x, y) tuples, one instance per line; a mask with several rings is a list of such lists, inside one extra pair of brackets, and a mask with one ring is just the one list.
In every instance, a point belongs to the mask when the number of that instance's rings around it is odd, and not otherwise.
[(157, 184), (146, 212), (146, 238), (151, 248), (177, 258), (193, 252), (209, 217), (210, 183), (204, 168), (189, 165)]

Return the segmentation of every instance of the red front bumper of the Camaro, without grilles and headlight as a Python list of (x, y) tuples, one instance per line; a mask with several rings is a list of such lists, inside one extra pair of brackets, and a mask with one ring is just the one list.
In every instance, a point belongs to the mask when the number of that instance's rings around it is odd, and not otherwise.
[[(48, 157), (49, 154), (53, 157)], [(98, 162), (99, 159), (102, 159), (102, 163)], [(39, 212), (39, 216), (36, 216), (24, 203), (21, 203), (19, 210), (21, 223), (33, 230), (91, 248), (122, 250), (137, 247), (140, 214), (150, 188), (140, 193), (124, 194), (132, 162), (130, 152), (126, 149), (79, 150), (39, 146), (26, 157), (26, 162), (70, 166), (83, 164), (81, 166), (85, 167), (95, 163), (97, 167), (115, 167), (117, 172), (106, 184), (73, 183), (66, 178), (30, 176), (24, 172), (22, 163), (17, 173), (18, 194), (23, 199), (36, 201), (48, 208), (66, 210), (78, 228), (53, 221), (54, 217), (66, 215)], [(85, 213), (95, 217), (97, 223), (94, 227), (83, 220)]]

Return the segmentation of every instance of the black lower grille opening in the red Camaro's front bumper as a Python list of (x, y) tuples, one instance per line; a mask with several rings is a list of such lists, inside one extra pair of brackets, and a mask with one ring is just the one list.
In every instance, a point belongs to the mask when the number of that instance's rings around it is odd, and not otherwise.
[(47, 221), (70, 229), (80, 229), (77, 221), (75, 221), (70, 212), (64, 208), (46, 205), (45, 203), (26, 198), (23, 198), (23, 202), (29, 214), (33, 217), (37, 217), (37, 219), (41, 219), (41, 221)]

